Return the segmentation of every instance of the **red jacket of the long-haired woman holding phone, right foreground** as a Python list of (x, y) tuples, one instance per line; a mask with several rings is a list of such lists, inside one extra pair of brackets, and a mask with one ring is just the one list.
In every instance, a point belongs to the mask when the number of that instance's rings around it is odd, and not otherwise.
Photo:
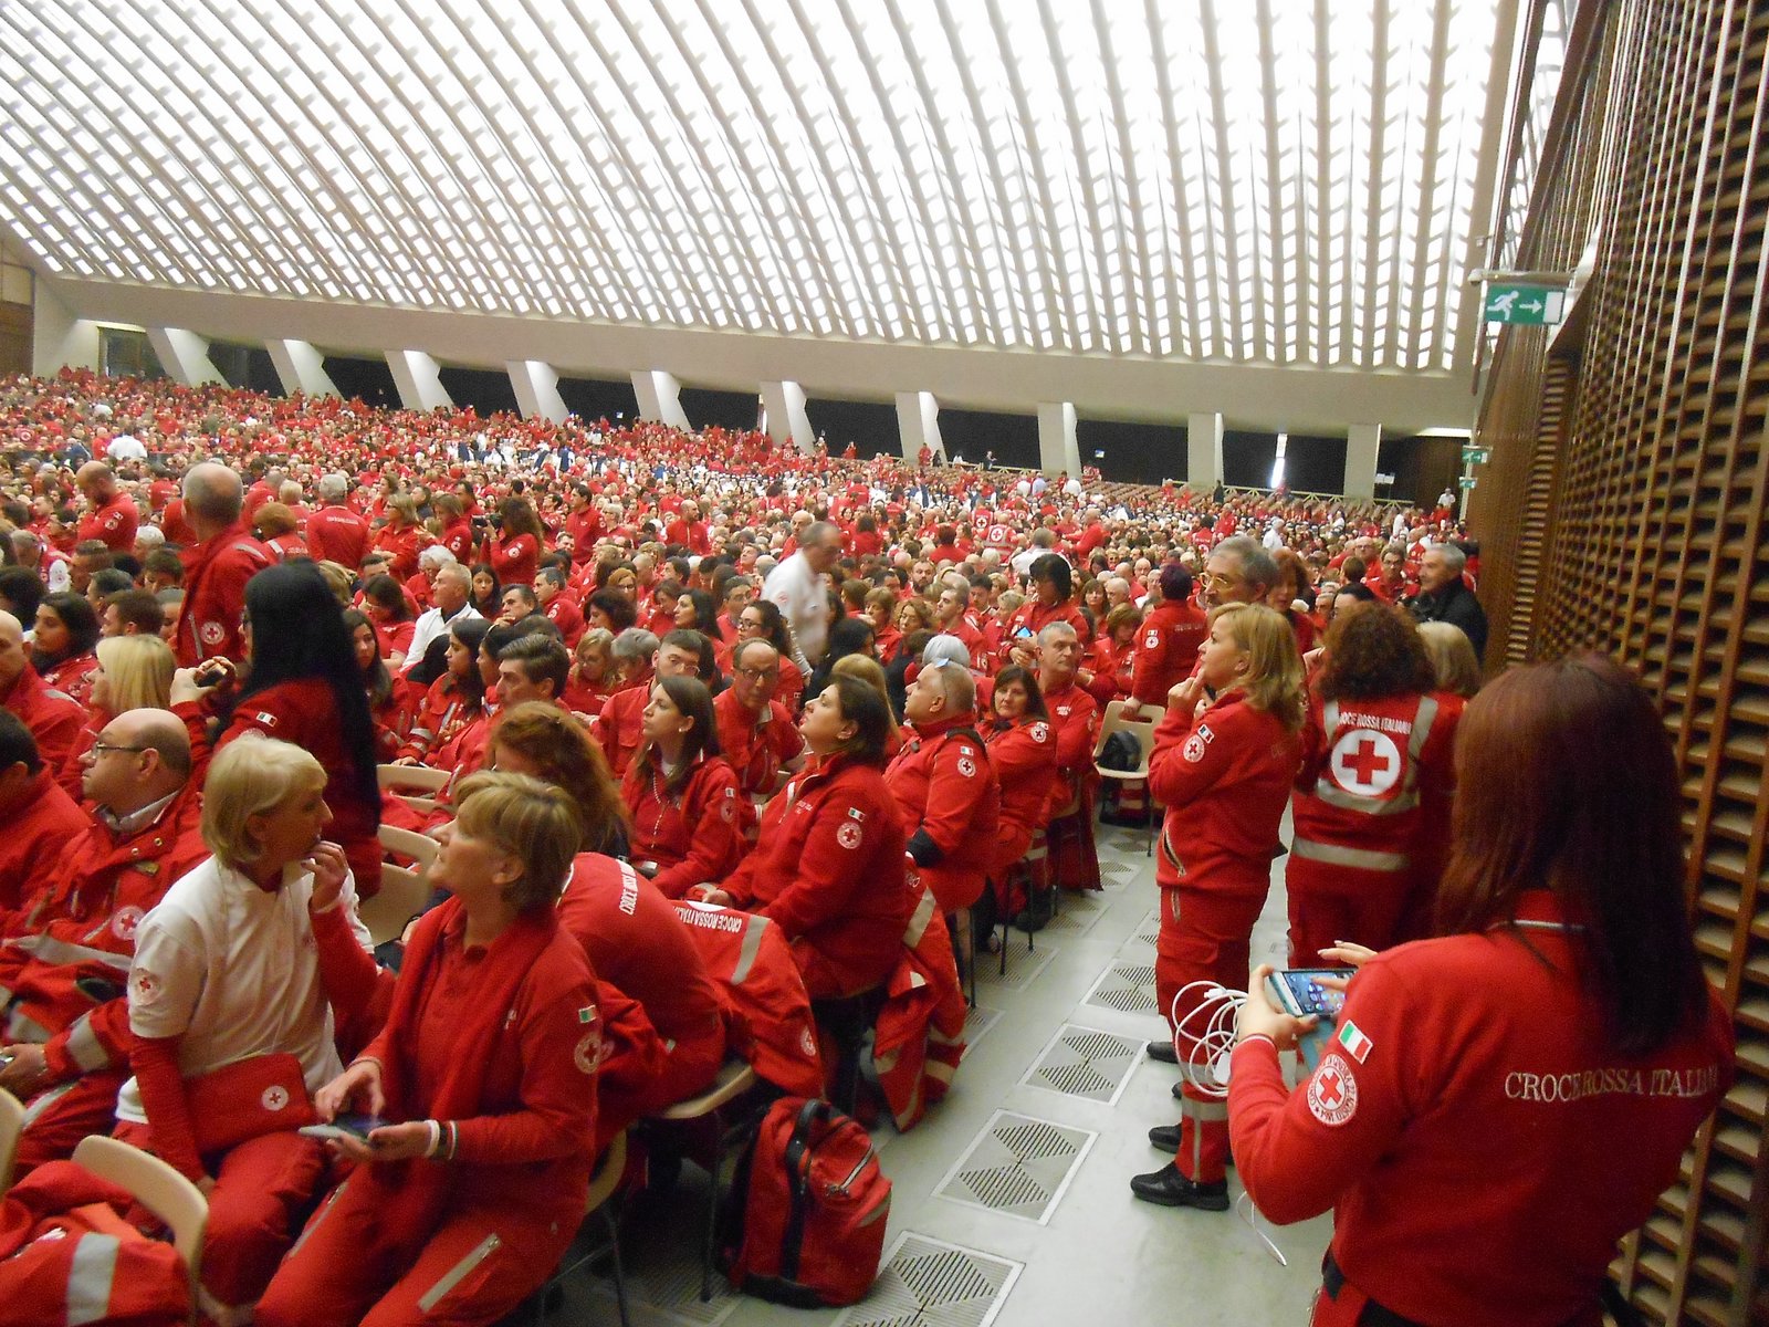
[(1732, 1083), (1718, 1000), (1663, 1049), (1620, 1055), (1557, 901), (1532, 890), (1518, 911), (1364, 964), (1293, 1093), (1268, 1040), (1235, 1051), (1247, 1193), (1279, 1224), (1332, 1208), (1346, 1281), (1413, 1322), (1596, 1323), (1617, 1239)]

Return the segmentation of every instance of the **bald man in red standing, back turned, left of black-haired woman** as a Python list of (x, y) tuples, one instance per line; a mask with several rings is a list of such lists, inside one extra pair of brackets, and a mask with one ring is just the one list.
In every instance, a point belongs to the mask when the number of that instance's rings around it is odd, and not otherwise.
[(223, 655), (246, 660), (241, 616), (246, 612), (246, 582), (271, 566), (276, 556), (246, 529), (241, 517), (244, 492), (226, 465), (203, 462), (184, 476), (184, 517), (196, 543), (184, 557), (184, 610), (173, 653), (179, 667), (195, 667)]

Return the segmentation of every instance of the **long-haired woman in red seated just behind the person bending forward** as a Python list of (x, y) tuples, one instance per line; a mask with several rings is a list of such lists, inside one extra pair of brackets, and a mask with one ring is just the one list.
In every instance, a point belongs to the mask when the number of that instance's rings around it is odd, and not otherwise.
[(754, 805), (718, 754), (713, 694), (699, 678), (658, 678), (621, 796), (633, 863), (670, 899), (743, 860)]

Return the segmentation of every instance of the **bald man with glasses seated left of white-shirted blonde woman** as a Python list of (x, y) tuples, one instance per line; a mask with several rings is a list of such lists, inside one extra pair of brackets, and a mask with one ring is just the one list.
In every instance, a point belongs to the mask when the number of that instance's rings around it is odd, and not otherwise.
[(0, 1088), (27, 1102), (19, 1175), (115, 1125), (117, 1090), (129, 1078), (136, 925), (209, 856), (177, 715), (119, 715), (83, 764), (81, 789), (97, 814), (55, 862), (37, 865), (27, 911), (0, 945), (11, 1056)]

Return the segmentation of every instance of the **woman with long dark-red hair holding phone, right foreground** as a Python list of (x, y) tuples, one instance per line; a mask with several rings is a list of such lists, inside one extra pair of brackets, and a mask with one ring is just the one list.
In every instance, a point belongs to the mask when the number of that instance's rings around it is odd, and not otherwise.
[(1295, 1092), (1279, 1056), (1311, 1024), (1268, 968), (1240, 1012), (1240, 1178), (1279, 1224), (1334, 1214), (1316, 1327), (1597, 1323), (1617, 1239), (1732, 1081), (1645, 688), (1597, 653), (1511, 669), (1456, 771), (1442, 938), (1321, 952), (1359, 971)]

